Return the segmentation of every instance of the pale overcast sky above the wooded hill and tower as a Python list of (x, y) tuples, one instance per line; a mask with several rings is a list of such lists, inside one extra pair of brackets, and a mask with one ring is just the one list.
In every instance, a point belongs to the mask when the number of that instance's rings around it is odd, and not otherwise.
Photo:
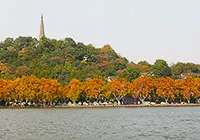
[(199, 0), (1, 0), (0, 40), (39, 36), (112, 48), (129, 61), (200, 64)]

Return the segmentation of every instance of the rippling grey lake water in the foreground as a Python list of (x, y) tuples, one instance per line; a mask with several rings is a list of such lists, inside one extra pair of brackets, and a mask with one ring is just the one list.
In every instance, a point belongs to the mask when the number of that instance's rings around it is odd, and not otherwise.
[(200, 107), (1, 109), (2, 140), (199, 140)]

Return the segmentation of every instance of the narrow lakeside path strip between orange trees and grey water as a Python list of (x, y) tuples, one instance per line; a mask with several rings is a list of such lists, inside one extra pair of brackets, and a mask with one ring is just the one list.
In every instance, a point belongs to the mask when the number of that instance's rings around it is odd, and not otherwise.
[(56, 108), (143, 108), (143, 107), (200, 107), (200, 104), (154, 104), (154, 105), (78, 105), (78, 106), (0, 106), (0, 109), (56, 109)]

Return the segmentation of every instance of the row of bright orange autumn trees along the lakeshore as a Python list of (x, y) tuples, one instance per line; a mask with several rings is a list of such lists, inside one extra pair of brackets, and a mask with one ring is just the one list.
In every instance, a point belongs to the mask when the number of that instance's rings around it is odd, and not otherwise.
[(0, 80), (1, 105), (61, 105), (78, 102), (110, 102), (122, 104), (123, 98), (132, 97), (144, 101), (197, 103), (200, 96), (200, 78), (186, 77), (174, 80), (170, 77), (152, 78), (140, 76), (132, 82), (125, 78), (106, 80), (100, 77), (84, 82), (73, 78), (61, 85), (55, 79), (22, 76), (15, 80)]

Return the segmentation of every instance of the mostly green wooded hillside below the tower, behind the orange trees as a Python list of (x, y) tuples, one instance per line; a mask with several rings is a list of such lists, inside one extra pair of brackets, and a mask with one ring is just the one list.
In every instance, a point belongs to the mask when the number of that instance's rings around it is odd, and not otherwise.
[[(134, 52), (133, 52), (134, 55)], [(185, 76), (199, 77), (200, 65), (178, 62), (169, 66), (158, 59), (129, 62), (110, 45), (96, 48), (72, 38), (62, 40), (32, 37), (7, 38), (0, 42), (0, 79), (14, 80), (22, 76), (56, 79), (62, 85), (73, 78), (81, 82), (95, 77), (125, 78), (131, 82), (141, 75), (153, 78)]]

